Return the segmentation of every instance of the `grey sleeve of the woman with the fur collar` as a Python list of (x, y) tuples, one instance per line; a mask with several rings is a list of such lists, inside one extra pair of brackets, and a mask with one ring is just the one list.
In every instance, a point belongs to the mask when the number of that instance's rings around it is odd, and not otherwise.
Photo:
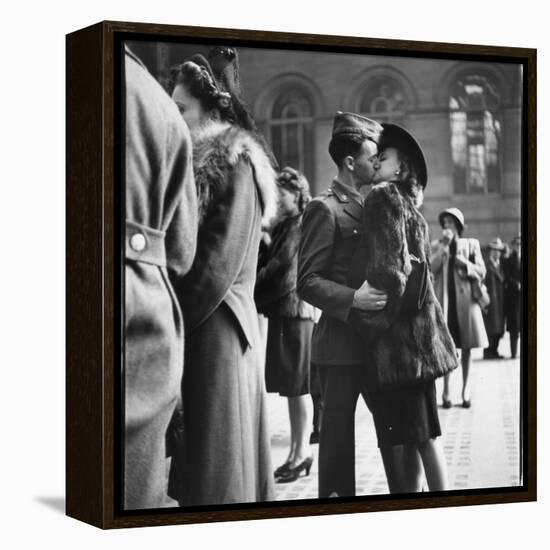
[(214, 312), (241, 270), (258, 202), (253, 177), (250, 164), (241, 158), (214, 190), (191, 271), (174, 285), (186, 331), (193, 331)]

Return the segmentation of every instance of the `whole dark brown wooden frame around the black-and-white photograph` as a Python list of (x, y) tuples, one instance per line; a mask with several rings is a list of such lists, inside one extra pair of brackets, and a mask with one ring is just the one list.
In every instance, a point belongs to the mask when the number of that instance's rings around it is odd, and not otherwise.
[[(521, 233), (524, 306), (520, 482), (415, 495), (125, 511), (120, 502), (123, 196), (121, 64), (125, 41), (227, 44), (521, 67)], [(536, 50), (252, 30), (102, 22), (67, 36), (66, 511), (101, 528), (406, 510), (536, 500)], [(329, 182), (323, 178), (320, 185)]]

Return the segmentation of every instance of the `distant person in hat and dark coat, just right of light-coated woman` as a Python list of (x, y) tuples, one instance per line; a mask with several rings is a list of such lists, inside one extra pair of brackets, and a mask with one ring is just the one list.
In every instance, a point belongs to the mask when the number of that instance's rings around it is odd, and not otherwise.
[(504, 244), (499, 237), (489, 243), (489, 261), (485, 284), (490, 303), (483, 312), (485, 330), (489, 346), (483, 350), (484, 359), (502, 359), (498, 353), (498, 344), (504, 334), (504, 271), (501, 262)]

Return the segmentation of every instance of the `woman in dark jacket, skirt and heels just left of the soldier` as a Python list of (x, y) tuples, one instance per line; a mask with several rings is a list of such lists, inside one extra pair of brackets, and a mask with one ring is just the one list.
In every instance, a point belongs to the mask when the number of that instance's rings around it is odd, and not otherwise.
[(266, 387), (288, 398), (290, 449), (275, 470), (279, 483), (309, 474), (313, 458), (309, 447), (312, 402), (309, 397), (311, 335), (315, 309), (298, 297), (298, 246), (302, 214), (311, 199), (306, 178), (284, 168), (277, 179), (279, 209), (271, 244), (258, 272), (255, 300), (268, 318)]

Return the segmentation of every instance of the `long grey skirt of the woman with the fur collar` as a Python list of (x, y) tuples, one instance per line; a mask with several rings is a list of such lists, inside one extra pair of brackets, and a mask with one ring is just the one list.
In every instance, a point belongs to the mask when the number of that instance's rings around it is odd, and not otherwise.
[(260, 336), (222, 304), (185, 342), (183, 438), (169, 495), (181, 506), (273, 500)]

